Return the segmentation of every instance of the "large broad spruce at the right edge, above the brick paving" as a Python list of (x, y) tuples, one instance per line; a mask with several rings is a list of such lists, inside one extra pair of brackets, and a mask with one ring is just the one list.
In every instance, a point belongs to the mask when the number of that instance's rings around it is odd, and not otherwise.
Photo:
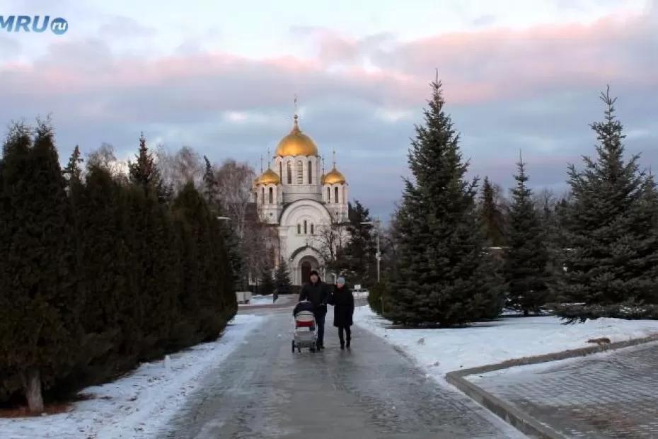
[(646, 202), (651, 180), (638, 169), (637, 156), (624, 160), (623, 125), (609, 88), (601, 100), (605, 118), (591, 124), (598, 156), (584, 157), (584, 169), (572, 165), (569, 172), (566, 272), (554, 290), (570, 303), (557, 309), (570, 321), (642, 317), (658, 303), (656, 212)]

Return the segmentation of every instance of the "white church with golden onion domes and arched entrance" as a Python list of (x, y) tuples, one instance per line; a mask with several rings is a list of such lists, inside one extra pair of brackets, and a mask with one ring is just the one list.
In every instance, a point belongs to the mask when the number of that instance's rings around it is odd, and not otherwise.
[(281, 139), (267, 169), (255, 179), (253, 201), (260, 222), (273, 229), (275, 266), (286, 261), (292, 283), (302, 285), (311, 270), (318, 270), (325, 279), (331, 277), (323, 257), (327, 231), (332, 224), (347, 222), (349, 192), (335, 159), (333, 168), (324, 172), (318, 147), (301, 132), (297, 118), (294, 115), (292, 131)]

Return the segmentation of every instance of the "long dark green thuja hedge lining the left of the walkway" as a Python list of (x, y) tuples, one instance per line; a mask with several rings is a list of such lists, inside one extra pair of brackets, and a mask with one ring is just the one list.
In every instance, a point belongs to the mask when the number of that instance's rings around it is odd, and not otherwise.
[(33, 411), (217, 338), (237, 310), (192, 183), (163, 197), (145, 141), (129, 176), (78, 163), (60, 167), (48, 122), (13, 125), (0, 160), (0, 402)]

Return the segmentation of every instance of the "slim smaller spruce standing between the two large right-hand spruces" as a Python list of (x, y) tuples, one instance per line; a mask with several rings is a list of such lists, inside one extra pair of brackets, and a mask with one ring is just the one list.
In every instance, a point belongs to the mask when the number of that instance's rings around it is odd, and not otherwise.
[(504, 275), (509, 287), (510, 306), (528, 315), (538, 312), (548, 299), (548, 252), (546, 236), (526, 183), (525, 164), (520, 160), (514, 176), (512, 205), (509, 207)]

